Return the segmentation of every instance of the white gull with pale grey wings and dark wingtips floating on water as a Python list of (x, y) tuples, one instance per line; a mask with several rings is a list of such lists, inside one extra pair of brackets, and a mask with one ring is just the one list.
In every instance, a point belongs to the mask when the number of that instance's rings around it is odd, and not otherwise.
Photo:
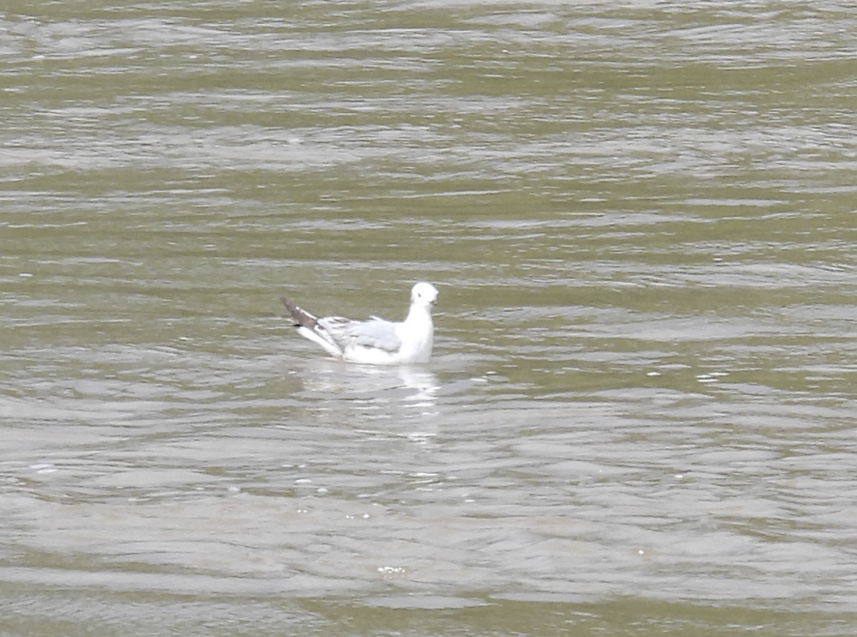
[(411, 309), (402, 322), (377, 316), (369, 317), (369, 321), (342, 316), (316, 318), (288, 297), (279, 300), (295, 319), (297, 333), (324, 347), (334, 358), (374, 365), (426, 363), (431, 358), (431, 307), (437, 301), (437, 289), (430, 283), (417, 283), (411, 288)]

